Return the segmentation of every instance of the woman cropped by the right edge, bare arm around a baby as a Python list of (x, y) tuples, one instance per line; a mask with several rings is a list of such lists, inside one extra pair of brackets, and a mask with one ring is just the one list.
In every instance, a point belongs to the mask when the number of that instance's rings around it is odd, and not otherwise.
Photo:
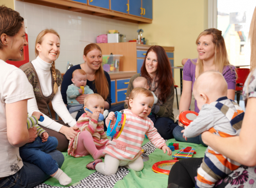
[[(251, 73), (243, 87), (246, 111), (239, 136), (224, 138), (209, 131), (202, 133), (204, 143), (225, 157), (242, 164), (226, 178), (216, 182), (214, 186), (216, 188), (247, 188), (255, 187), (256, 183), (256, 7), (252, 16), (249, 40), (251, 41)], [(190, 158), (175, 163), (169, 174), (168, 188), (194, 187), (197, 169), (202, 160), (203, 158)]]

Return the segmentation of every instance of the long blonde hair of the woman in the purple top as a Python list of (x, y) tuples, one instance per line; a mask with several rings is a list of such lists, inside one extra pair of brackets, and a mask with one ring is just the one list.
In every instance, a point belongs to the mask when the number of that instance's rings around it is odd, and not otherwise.
[[(229, 63), (225, 41), (221, 34), (222, 34), (222, 32), (218, 29), (215, 29), (215, 28), (206, 29), (202, 33), (200, 33), (200, 35), (197, 37), (196, 45), (197, 45), (200, 37), (202, 37), (204, 35), (212, 35), (212, 42), (214, 44), (214, 49), (215, 49), (213, 62), (215, 64), (215, 68), (220, 73), (223, 73), (224, 67), (229, 66), (231, 69), (231, 64)], [(191, 61), (194, 64), (196, 64), (196, 62), (194, 62), (192, 59), (191, 59)], [(200, 75), (204, 72), (203, 60), (198, 57), (197, 63), (198, 63), (198, 72)], [(237, 74), (236, 74), (236, 78), (237, 78)]]

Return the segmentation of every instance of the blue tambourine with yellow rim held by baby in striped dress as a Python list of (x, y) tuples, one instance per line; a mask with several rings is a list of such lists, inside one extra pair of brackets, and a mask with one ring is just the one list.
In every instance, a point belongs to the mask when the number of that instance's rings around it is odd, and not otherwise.
[(116, 111), (115, 116), (116, 123), (114, 127), (112, 129), (110, 128), (110, 120), (107, 129), (107, 136), (110, 137), (110, 141), (117, 139), (121, 135), (126, 121), (126, 115), (123, 113), (123, 110), (121, 112)]

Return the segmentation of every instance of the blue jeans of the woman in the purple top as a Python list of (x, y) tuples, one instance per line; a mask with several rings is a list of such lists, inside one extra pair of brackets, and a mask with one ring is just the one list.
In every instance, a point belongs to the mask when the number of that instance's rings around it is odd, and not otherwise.
[(203, 144), (204, 146), (207, 147), (207, 145), (202, 141), (201, 134), (199, 136), (197, 136), (197, 137), (194, 137), (194, 138), (188, 138), (188, 140), (186, 141), (183, 138), (183, 133), (181, 133), (182, 130), (184, 130), (184, 127), (180, 127), (180, 126), (177, 126), (173, 130), (173, 136), (174, 136), (176, 141), (190, 142), (190, 143), (196, 143), (196, 144)]

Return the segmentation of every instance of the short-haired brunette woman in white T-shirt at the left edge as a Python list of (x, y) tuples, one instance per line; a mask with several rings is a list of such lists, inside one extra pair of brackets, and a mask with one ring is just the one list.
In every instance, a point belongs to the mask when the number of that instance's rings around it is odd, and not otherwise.
[[(33, 87), (22, 70), (5, 62), (20, 59), (28, 45), (23, 21), (18, 12), (0, 6), (0, 187), (32, 188), (50, 177), (19, 154), (19, 147), (37, 138), (36, 128), (27, 128), (27, 101), (34, 97)], [(57, 150), (49, 154), (60, 168), (63, 154)]]

